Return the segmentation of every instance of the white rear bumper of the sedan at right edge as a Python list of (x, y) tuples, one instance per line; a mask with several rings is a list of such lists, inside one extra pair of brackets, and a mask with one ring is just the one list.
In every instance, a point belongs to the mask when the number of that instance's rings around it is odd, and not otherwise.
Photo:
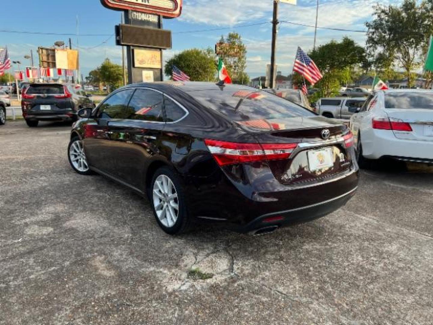
[(433, 137), (431, 141), (404, 140), (397, 139), (392, 131), (374, 130), (372, 139), (366, 142), (362, 140), (363, 156), (368, 159), (384, 156), (433, 159)]

